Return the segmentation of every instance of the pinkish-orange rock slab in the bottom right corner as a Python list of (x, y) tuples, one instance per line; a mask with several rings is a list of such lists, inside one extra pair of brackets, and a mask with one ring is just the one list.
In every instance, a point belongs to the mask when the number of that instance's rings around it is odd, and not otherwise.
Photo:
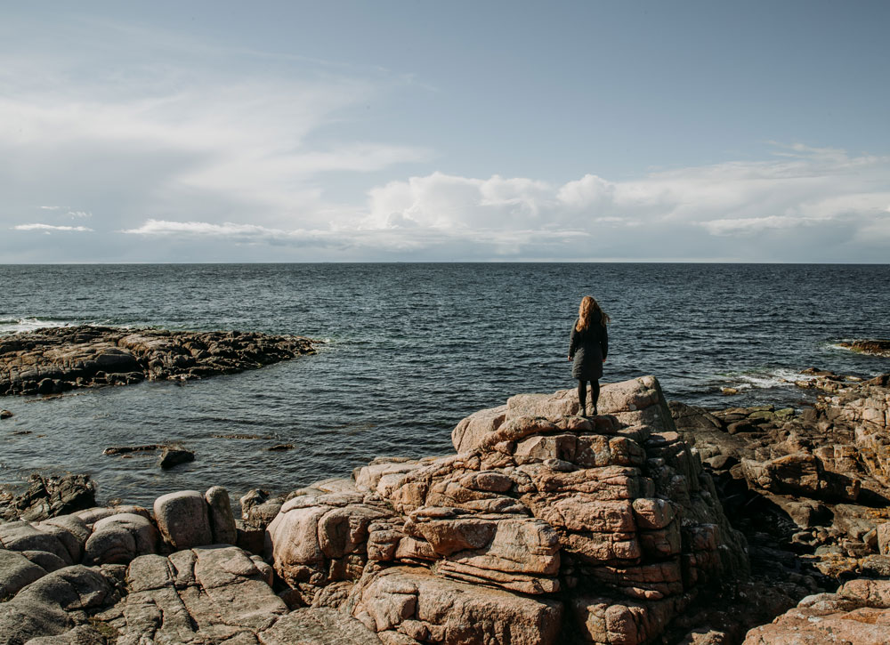
[(797, 608), (748, 632), (744, 645), (886, 645), (890, 580), (851, 580), (837, 593), (807, 596)]

